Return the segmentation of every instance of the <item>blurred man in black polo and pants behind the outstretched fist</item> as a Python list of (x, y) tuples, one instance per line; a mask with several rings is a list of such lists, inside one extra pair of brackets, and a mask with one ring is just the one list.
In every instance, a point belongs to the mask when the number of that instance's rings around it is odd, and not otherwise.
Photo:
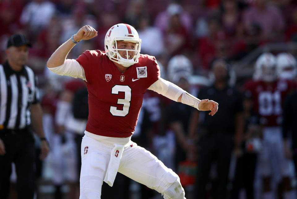
[[(217, 163), (217, 186), (213, 198), (226, 199), (228, 174), (232, 150), (241, 154), (243, 134), (243, 102), (239, 91), (229, 85), (230, 67), (224, 59), (213, 61), (214, 83), (199, 91), (198, 97), (208, 96), (220, 104), (221, 110), (214, 117), (204, 117), (196, 112), (192, 121), (200, 117), (199, 155), (196, 177), (196, 196), (204, 199), (212, 164)], [(222, 110), (223, 109), (223, 110)], [(216, 124), (216, 125), (213, 125)], [(193, 135), (193, 133), (192, 133)]]

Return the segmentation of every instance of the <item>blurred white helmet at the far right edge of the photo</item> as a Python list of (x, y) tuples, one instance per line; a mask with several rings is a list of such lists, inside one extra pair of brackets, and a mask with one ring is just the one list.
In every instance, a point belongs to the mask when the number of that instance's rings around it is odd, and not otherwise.
[(277, 58), (278, 77), (294, 79), (297, 75), (297, 61), (293, 55), (287, 52), (278, 54)]

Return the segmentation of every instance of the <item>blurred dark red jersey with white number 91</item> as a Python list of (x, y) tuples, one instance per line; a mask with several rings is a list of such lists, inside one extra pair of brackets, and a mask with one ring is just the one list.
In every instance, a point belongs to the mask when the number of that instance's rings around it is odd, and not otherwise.
[(277, 80), (271, 85), (264, 81), (248, 81), (245, 89), (252, 95), (254, 110), (260, 116), (264, 126), (280, 126), (282, 123), (282, 105), (285, 97), (296, 84), (289, 80)]

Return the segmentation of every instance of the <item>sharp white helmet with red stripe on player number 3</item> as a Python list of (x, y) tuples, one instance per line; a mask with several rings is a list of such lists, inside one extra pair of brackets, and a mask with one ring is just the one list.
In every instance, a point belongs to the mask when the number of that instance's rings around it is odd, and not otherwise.
[[(116, 41), (129, 41), (136, 43), (136, 50), (126, 50), (127, 54), (128, 51), (136, 52), (132, 59), (123, 58), (118, 53), (117, 42)], [(139, 39), (138, 33), (134, 27), (125, 24), (119, 23), (111, 27), (104, 39), (104, 48), (106, 55), (109, 57), (110, 60), (123, 65), (124, 67), (129, 67), (133, 64), (138, 63), (138, 58), (140, 56), (140, 47), (141, 47), (141, 39)]]

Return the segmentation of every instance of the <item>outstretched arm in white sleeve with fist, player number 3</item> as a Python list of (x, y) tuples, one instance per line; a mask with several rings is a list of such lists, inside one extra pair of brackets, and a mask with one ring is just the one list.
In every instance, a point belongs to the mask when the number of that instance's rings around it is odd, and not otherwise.
[(173, 84), (170, 81), (166, 81), (162, 78), (159, 78), (155, 83), (153, 83), (148, 89), (153, 90), (165, 97), (168, 97), (175, 102), (182, 102), (189, 106), (193, 106), (198, 110), (211, 112), (209, 115), (214, 115), (218, 110), (218, 103), (213, 100), (204, 99), (200, 100), (197, 97), (194, 97), (187, 91), (181, 89), (179, 86)]

